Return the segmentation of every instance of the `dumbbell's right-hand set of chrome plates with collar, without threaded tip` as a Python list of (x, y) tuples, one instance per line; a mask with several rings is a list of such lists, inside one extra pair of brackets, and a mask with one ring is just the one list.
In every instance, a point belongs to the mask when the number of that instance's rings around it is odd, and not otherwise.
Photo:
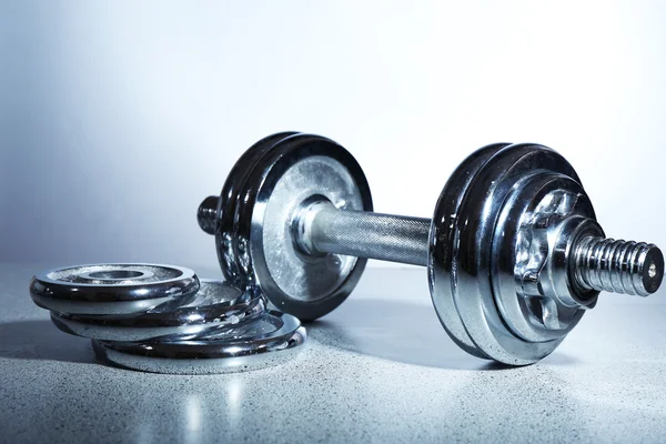
[(551, 149), (501, 144), (463, 162), (450, 186), (462, 193), (450, 199), (445, 189), (431, 235), (442, 323), (453, 325), (456, 342), (496, 361), (543, 359), (598, 295), (573, 276), (576, 245), (604, 236), (578, 176)]

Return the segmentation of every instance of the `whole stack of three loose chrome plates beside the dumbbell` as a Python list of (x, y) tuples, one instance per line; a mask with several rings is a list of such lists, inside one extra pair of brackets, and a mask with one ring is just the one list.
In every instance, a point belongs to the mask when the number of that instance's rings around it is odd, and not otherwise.
[(192, 270), (97, 264), (32, 279), (34, 303), (65, 333), (90, 337), (98, 357), (155, 373), (226, 373), (293, 357), (300, 321), (265, 310), (256, 289), (199, 280)]

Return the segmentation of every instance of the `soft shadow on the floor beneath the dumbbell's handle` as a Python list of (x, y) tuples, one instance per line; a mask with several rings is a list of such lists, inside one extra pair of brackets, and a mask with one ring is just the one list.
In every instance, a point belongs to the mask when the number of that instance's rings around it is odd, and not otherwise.
[[(306, 326), (312, 341), (390, 361), (451, 370), (513, 369), (461, 350), (427, 305), (352, 296)], [(557, 352), (547, 357), (548, 364), (573, 362)]]

